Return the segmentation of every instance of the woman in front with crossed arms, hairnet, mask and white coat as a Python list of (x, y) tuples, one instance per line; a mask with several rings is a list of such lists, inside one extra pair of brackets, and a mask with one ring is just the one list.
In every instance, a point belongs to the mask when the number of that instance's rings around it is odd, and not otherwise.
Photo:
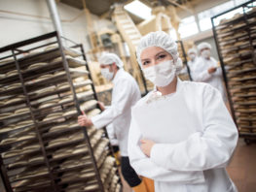
[(213, 86), (181, 81), (177, 45), (165, 32), (143, 37), (137, 59), (155, 90), (131, 109), (130, 164), (154, 179), (156, 192), (236, 192), (226, 166), (236, 125)]

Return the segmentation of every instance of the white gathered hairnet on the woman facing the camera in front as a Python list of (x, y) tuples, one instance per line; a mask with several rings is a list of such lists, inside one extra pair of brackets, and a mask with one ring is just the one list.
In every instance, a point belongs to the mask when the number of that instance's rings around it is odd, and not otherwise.
[(182, 60), (179, 57), (177, 44), (175, 41), (164, 31), (151, 32), (144, 36), (136, 49), (137, 61), (142, 66), (140, 60), (140, 54), (145, 48), (149, 47), (159, 47), (165, 49), (171, 54), (174, 65), (176, 67), (176, 74), (178, 74), (182, 69)]

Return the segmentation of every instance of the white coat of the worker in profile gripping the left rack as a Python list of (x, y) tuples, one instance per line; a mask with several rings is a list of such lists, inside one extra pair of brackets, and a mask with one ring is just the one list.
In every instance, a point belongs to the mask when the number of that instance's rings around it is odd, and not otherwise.
[(91, 117), (91, 121), (96, 128), (102, 128), (112, 122), (121, 155), (128, 156), (131, 107), (140, 99), (140, 91), (136, 81), (124, 69), (118, 70), (113, 84), (111, 106)]

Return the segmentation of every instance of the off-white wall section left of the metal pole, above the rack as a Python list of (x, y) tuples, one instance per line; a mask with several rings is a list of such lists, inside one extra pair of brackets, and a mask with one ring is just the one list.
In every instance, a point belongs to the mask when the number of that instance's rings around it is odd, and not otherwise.
[[(0, 9), (35, 16), (49, 16), (44, 0), (0, 0)], [(51, 19), (17, 16), (0, 12), (0, 47), (54, 30)]]

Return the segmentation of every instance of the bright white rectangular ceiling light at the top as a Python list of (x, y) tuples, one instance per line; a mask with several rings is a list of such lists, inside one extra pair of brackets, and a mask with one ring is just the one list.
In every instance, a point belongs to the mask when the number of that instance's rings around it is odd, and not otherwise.
[(139, 16), (143, 19), (151, 17), (151, 8), (141, 3), (138, 0), (134, 0), (125, 6), (125, 9), (135, 16)]

